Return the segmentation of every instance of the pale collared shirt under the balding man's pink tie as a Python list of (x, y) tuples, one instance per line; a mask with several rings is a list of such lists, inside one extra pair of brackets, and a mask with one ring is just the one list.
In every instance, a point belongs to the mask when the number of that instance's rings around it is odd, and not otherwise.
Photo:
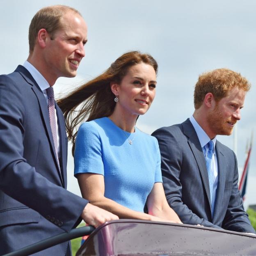
[[(49, 83), (46, 79), (41, 75), (41, 73), (27, 60), (24, 62), (23, 66), (29, 73), (32, 75), (34, 80), (37, 82), (37, 85), (40, 87), (41, 91), (43, 92), (44, 97), (46, 98), (46, 102), (48, 105), (48, 96), (46, 94), (46, 89), (50, 87)], [(56, 129), (57, 129), (57, 148), (58, 148), (58, 155), (60, 155), (60, 148), (59, 148), (59, 127), (58, 127), (58, 119), (57, 113), (55, 109), (55, 120), (56, 120)]]

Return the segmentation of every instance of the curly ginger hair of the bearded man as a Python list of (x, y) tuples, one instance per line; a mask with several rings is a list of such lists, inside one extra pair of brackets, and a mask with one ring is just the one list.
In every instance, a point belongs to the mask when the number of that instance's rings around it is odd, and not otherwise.
[(211, 92), (215, 101), (224, 98), (228, 91), (238, 87), (244, 91), (249, 91), (251, 85), (240, 73), (230, 69), (215, 69), (199, 75), (194, 89), (194, 107), (198, 109), (208, 92)]

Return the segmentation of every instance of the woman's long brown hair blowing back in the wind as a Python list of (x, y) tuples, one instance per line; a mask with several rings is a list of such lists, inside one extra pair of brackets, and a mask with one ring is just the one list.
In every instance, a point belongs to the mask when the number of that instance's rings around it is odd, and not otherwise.
[(78, 125), (82, 121), (109, 117), (113, 113), (116, 103), (110, 82), (120, 83), (128, 68), (141, 62), (153, 66), (157, 73), (158, 64), (151, 55), (138, 51), (125, 53), (104, 73), (57, 101), (64, 114), (68, 139), (73, 144), (72, 154), (74, 154)]

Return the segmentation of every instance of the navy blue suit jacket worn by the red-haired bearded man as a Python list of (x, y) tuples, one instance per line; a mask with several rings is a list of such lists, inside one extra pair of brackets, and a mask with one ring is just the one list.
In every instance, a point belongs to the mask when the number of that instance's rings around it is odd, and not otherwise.
[(206, 160), (192, 123), (187, 119), (152, 135), (160, 146), (167, 201), (183, 223), (255, 233), (242, 205), (231, 149), (216, 142), (219, 183), (212, 217)]

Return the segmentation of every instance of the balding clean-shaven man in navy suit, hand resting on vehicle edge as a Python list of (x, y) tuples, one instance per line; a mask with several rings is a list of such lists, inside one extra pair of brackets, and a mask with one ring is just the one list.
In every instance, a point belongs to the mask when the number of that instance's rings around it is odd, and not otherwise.
[[(0, 76), (0, 255), (68, 232), (81, 218), (96, 227), (118, 218), (66, 190), (64, 118), (54, 100), (48, 112), (47, 89), (76, 75), (86, 42), (77, 10), (43, 8), (30, 24), (27, 61)], [(65, 242), (38, 255), (70, 254)]]

